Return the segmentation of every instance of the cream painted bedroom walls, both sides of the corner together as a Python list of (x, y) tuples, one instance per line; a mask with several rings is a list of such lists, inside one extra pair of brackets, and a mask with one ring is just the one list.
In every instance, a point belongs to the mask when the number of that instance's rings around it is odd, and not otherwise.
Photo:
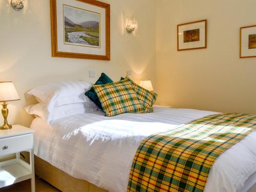
[[(50, 2), (27, 0), (25, 10), (0, 1), (0, 81), (12, 80), (21, 100), (9, 122), (29, 125), (24, 94), (52, 81), (113, 80), (132, 70), (150, 78), (157, 103), (178, 108), (256, 113), (256, 58), (239, 58), (239, 28), (256, 25), (254, 0), (105, 0), (111, 4), (111, 61), (51, 57)], [(126, 23), (138, 21), (134, 34)], [(177, 25), (208, 20), (208, 48), (177, 52)], [(157, 56), (156, 56), (157, 55)], [(0, 118), (2, 123), (2, 118)]]

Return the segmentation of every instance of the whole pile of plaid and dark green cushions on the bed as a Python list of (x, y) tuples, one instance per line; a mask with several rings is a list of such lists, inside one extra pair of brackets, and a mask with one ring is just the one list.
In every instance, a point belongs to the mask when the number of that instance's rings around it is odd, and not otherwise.
[[(107, 79), (104, 82), (103, 79)], [(115, 116), (123, 113), (150, 113), (157, 94), (148, 91), (129, 77), (113, 82), (104, 73), (86, 95), (99, 106), (105, 116)]]

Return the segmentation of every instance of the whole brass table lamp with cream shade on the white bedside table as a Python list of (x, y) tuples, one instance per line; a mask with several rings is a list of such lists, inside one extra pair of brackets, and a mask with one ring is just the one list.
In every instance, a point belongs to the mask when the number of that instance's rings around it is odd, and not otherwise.
[(2, 115), (4, 117), (4, 124), (0, 127), (0, 130), (9, 130), (12, 129), (12, 125), (9, 125), (7, 122), (8, 109), (7, 101), (16, 101), (19, 100), (18, 93), (14, 87), (12, 81), (0, 82), (0, 102), (4, 102)]

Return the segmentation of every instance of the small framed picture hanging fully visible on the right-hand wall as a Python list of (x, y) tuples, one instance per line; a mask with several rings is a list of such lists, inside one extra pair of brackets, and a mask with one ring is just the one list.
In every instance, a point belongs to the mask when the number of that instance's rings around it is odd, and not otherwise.
[(207, 20), (199, 20), (177, 26), (177, 50), (203, 49), (207, 47)]

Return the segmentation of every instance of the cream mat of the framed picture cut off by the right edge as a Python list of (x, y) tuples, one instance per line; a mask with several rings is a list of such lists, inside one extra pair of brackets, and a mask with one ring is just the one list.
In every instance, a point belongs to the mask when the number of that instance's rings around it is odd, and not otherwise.
[(243, 28), (241, 30), (241, 56), (256, 56), (256, 49), (249, 49), (249, 35), (256, 34), (256, 27)]

